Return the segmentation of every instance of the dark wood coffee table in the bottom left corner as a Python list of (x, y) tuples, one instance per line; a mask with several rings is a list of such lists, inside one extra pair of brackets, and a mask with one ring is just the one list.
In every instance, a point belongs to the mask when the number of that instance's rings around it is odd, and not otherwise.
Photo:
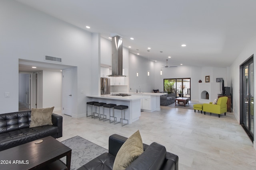
[(0, 170), (39, 169), (66, 156), (66, 166), (70, 170), (71, 149), (53, 137), (6, 149), (0, 152)]

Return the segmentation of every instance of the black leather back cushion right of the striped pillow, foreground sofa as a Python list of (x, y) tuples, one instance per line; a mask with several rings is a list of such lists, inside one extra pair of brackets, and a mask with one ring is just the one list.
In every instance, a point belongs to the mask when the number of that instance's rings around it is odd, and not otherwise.
[[(165, 162), (165, 156), (165, 147), (153, 142), (126, 170), (159, 170)], [(175, 167), (174, 163), (170, 165), (169, 169), (171, 167)]]

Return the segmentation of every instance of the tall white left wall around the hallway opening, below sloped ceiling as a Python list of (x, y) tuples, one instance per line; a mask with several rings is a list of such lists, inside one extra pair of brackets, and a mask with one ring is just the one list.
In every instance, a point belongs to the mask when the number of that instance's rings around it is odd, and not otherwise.
[[(85, 95), (99, 81), (91, 78), (92, 68), (98, 66), (92, 61), (92, 34), (16, 1), (1, 0), (0, 16), (0, 113), (18, 111), (18, 59), (45, 62), (44, 55), (49, 55), (77, 66), (74, 116), (85, 115)], [(4, 92), (10, 92), (10, 98)]]

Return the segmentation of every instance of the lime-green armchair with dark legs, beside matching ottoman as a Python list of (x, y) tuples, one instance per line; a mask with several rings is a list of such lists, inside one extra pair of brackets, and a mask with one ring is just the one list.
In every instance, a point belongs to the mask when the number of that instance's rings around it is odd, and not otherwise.
[(217, 104), (212, 104), (212, 102), (210, 102), (210, 104), (204, 103), (203, 104), (204, 114), (205, 112), (216, 113), (216, 114), (219, 114), (219, 117), (221, 113), (224, 113), (224, 115), (226, 115), (227, 101), (228, 101), (228, 97), (225, 96), (225, 97), (220, 97), (218, 99)]

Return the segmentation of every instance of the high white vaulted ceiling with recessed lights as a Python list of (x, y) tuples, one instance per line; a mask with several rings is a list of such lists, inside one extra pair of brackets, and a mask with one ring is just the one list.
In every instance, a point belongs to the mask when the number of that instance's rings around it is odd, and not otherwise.
[(230, 66), (256, 35), (256, 0), (16, 1), (170, 66)]

